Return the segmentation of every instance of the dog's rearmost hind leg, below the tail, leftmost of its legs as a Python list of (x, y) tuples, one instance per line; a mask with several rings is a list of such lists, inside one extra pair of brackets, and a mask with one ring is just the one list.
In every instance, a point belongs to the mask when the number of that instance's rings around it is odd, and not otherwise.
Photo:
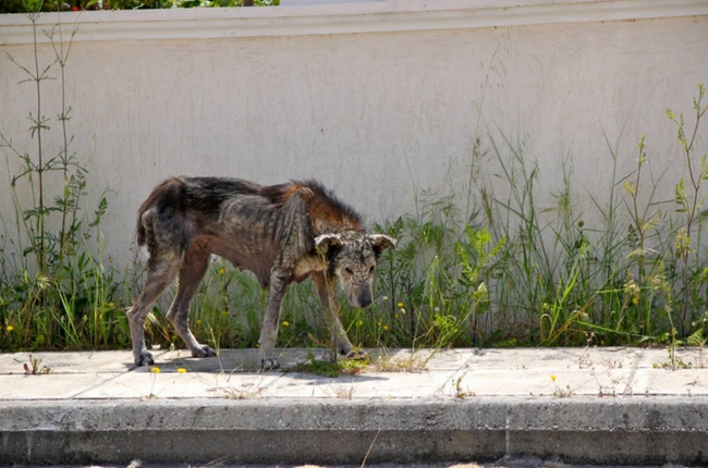
[(133, 340), (133, 359), (138, 366), (155, 364), (152, 355), (145, 346), (145, 318), (150, 311), (152, 304), (160, 297), (167, 286), (176, 275), (179, 258), (164, 257), (158, 260), (148, 261), (147, 280), (141, 292), (137, 301), (127, 311), (127, 320)]

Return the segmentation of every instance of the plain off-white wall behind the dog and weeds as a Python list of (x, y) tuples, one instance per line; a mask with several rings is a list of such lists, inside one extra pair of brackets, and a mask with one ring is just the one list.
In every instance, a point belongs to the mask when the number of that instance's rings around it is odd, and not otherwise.
[[(65, 69), (71, 148), (89, 171), (89, 201), (110, 190), (108, 255), (127, 261), (136, 209), (170, 175), (316, 177), (369, 221), (395, 218), (415, 210), (420, 189), (465, 184), (477, 136), (491, 168), (487, 128), (524, 141), (548, 202), (572, 160), (588, 212), (589, 195), (609, 193), (608, 141), (626, 173), (647, 134), (672, 197), (683, 171), (664, 109), (689, 115), (708, 83), (707, 1), (316, 3), (62, 14), (65, 37), (77, 25)], [(40, 28), (57, 21), (46, 14)], [(52, 46), (39, 41), (48, 64)], [(0, 131), (34, 155), (35, 88), (17, 84), (26, 76), (5, 57), (34, 65), (33, 47), (25, 16), (0, 16)], [(45, 157), (61, 147), (59, 83), (41, 85)], [(4, 152), (8, 223), (19, 169)]]

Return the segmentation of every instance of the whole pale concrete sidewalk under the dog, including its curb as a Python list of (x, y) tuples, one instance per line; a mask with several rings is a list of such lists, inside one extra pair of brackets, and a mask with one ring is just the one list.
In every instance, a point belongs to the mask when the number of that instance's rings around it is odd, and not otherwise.
[[(322, 359), (324, 352), (315, 350)], [(0, 465), (493, 460), (708, 465), (708, 358), (667, 349), (375, 350), (339, 378), (130, 352), (0, 355)], [(281, 352), (284, 369), (307, 361)], [(26, 374), (27, 370), (38, 372)], [(49, 371), (49, 373), (42, 373)]]

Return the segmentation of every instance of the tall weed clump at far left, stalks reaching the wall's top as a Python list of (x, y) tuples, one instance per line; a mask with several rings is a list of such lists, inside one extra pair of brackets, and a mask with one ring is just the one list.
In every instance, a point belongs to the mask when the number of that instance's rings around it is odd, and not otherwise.
[[(100, 223), (108, 208), (107, 196), (100, 196), (93, 213), (84, 212), (87, 172), (71, 149), (73, 137), (69, 136), (72, 109), (66, 103), (65, 74), (76, 24), (69, 39), (61, 21), (42, 32), (53, 58), (41, 63), (39, 13), (27, 16), (35, 37), (33, 63), (24, 65), (10, 54), (8, 59), (26, 76), (20, 84), (35, 87), (36, 104), (28, 120), (36, 150), (22, 151), (0, 131), (14, 207), (14, 234), (3, 236), (0, 256), (0, 321), (17, 331), (12, 344), (15, 348), (115, 346), (125, 343), (120, 337), (125, 336), (125, 328), (112, 299), (117, 287), (112, 266), (101, 259)], [(51, 119), (45, 115), (42, 85), (50, 79), (59, 81), (61, 93), (56, 119), (61, 143), (54, 153), (47, 152), (45, 141)], [(25, 204), (27, 199), (29, 205)], [(4, 345), (0, 337), (0, 347)]]

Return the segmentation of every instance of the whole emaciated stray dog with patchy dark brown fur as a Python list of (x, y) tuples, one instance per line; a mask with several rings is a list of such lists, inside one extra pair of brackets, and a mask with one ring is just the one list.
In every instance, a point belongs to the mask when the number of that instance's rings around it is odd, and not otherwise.
[(137, 243), (150, 255), (143, 291), (127, 311), (133, 357), (154, 364), (144, 324), (152, 304), (179, 278), (167, 317), (194, 357), (216, 356), (188, 327), (188, 310), (211, 254), (252, 271), (270, 287), (260, 332), (260, 366), (277, 369), (280, 306), (293, 281), (312, 278), (329, 309), (331, 340), (343, 356), (357, 357), (339, 319), (334, 283), (350, 304), (371, 305), (371, 280), (379, 255), (395, 248), (383, 234), (367, 234), (358, 214), (317, 182), (261, 186), (227, 177), (174, 177), (155, 187), (137, 215)]

